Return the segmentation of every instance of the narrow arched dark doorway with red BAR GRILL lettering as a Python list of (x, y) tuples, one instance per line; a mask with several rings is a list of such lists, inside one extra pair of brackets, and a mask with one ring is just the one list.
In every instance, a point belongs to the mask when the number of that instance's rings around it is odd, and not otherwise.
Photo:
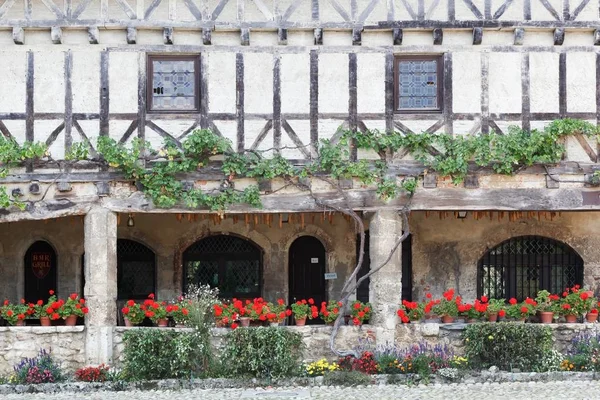
[(58, 267), (56, 251), (45, 241), (37, 241), (25, 253), (25, 300), (35, 303), (46, 302), (50, 290), (57, 290), (56, 269)]

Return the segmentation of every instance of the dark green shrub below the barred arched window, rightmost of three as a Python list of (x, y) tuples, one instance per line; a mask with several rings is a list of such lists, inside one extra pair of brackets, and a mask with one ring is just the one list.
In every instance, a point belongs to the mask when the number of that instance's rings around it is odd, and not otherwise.
[(463, 339), (469, 365), (475, 369), (495, 365), (507, 371), (533, 371), (541, 355), (552, 349), (551, 329), (534, 324), (470, 324)]

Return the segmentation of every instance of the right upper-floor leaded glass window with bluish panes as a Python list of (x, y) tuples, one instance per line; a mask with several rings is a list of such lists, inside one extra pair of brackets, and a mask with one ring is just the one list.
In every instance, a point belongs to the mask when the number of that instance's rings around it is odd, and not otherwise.
[(442, 110), (442, 58), (396, 57), (396, 111)]

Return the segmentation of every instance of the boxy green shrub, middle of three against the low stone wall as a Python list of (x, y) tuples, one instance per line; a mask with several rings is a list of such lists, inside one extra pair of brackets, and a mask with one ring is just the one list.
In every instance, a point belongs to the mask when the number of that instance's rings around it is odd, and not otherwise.
[(281, 378), (301, 372), (302, 336), (281, 328), (239, 328), (226, 337), (222, 365), (232, 377)]

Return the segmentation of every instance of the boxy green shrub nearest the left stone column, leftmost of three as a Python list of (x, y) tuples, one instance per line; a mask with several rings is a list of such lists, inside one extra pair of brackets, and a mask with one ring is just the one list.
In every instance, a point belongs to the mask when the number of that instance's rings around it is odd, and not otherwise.
[(196, 332), (133, 329), (125, 332), (123, 376), (128, 380), (183, 378), (206, 368)]

